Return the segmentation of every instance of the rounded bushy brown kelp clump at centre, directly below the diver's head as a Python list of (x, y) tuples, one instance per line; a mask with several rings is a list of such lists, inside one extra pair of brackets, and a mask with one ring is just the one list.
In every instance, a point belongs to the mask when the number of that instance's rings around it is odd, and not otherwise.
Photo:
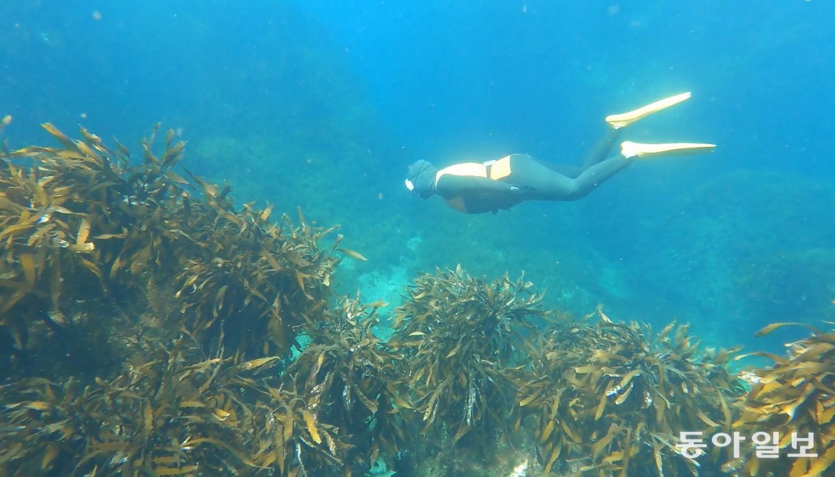
[(515, 349), (532, 332), (532, 318), (545, 314), (541, 295), (522, 278), (487, 283), (460, 266), (424, 273), (406, 292), (390, 346), (406, 359), (402, 387), (415, 403), (417, 429), (436, 444), (467, 437), (487, 451), (513, 423), (511, 377), (524, 373), (514, 366)]

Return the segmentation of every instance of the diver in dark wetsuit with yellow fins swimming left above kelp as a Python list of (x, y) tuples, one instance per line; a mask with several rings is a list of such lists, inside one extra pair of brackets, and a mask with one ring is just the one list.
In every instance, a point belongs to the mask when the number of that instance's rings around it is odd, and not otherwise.
[(607, 116), (605, 121), (610, 130), (579, 166), (544, 163), (526, 154), (507, 155), (484, 163), (454, 164), (441, 170), (428, 160), (418, 160), (409, 166), (406, 187), (424, 199), (440, 195), (453, 209), (466, 214), (496, 213), (526, 200), (578, 200), (635, 160), (715, 150), (716, 145), (712, 144), (623, 141), (620, 153), (610, 155), (626, 126), (690, 97), (690, 93), (676, 94), (628, 113)]

